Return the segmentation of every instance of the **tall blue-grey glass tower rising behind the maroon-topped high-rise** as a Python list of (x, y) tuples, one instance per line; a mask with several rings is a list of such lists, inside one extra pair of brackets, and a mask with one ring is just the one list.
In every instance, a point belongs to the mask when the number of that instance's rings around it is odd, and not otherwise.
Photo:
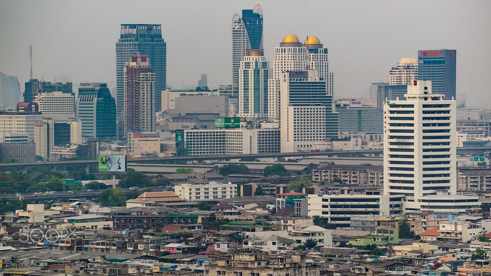
[(155, 111), (160, 111), (161, 91), (166, 88), (166, 44), (161, 25), (121, 24), (121, 34), (116, 43), (116, 107), (117, 116), (124, 109), (125, 63), (132, 55), (148, 55), (155, 73)]

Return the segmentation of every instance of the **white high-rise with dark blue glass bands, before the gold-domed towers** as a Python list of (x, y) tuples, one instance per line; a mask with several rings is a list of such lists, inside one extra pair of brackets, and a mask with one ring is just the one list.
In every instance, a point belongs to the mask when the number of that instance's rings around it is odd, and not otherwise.
[(280, 81), (281, 152), (315, 149), (314, 144), (338, 137), (338, 114), (332, 95), (317, 70), (286, 71)]

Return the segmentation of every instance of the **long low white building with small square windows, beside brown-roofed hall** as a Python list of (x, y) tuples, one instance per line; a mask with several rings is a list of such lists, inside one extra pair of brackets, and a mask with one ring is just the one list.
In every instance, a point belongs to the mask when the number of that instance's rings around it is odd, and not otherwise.
[(232, 183), (217, 183), (215, 181), (202, 184), (181, 184), (174, 186), (174, 191), (180, 197), (193, 201), (210, 201), (218, 198), (237, 196), (237, 185)]

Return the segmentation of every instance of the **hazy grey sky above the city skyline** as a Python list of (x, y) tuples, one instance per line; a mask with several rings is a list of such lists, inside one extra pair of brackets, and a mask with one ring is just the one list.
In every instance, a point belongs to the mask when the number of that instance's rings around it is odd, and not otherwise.
[[(162, 24), (167, 84), (232, 83), (231, 22), (255, 1), (0, 0), (0, 72), (53, 81), (114, 82), (120, 24)], [(261, 1), (265, 55), (285, 34), (318, 36), (329, 48), (334, 97), (369, 97), (401, 57), (457, 49), (457, 95), (491, 105), (491, 1)], [(112, 92), (112, 91), (111, 91)], [(469, 100), (469, 97), (467, 98)]]

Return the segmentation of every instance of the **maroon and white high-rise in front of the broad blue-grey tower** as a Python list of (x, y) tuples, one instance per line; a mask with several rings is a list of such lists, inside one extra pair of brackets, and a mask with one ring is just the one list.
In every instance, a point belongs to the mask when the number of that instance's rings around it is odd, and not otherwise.
[(147, 55), (132, 55), (125, 63), (124, 75), (124, 131), (155, 130), (156, 74)]

